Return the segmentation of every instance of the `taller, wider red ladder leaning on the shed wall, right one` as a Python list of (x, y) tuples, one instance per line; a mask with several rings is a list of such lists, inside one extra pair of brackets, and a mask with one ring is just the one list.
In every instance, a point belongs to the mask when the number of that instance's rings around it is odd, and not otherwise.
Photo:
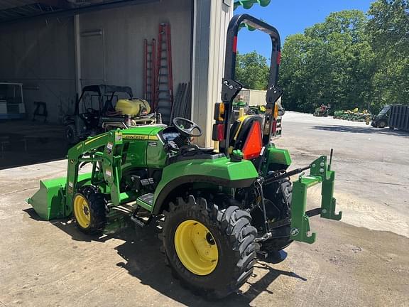
[(160, 23), (159, 25), (157, 57), (155, 109), (162, 115), (163, 123), (169, 124), (173, 104), (172, 49), (169, 23)]

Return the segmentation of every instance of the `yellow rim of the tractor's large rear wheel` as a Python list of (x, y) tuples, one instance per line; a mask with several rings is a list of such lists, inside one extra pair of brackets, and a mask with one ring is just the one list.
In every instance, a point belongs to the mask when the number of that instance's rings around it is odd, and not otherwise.
[(175, 249), (180, 262), (197, 275), (208, 275), (216, 269), (219, 250), (216, 241), (205, 225), (185, 220), (175, 232)]

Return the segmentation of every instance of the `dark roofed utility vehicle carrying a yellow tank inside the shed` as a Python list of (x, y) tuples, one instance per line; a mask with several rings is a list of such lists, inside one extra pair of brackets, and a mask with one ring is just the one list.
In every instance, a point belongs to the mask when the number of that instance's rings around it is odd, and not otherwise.
[(89, 85), (82, 89), (72, 115), (64, 117), (65, 137), (70, 144), (96, 136), (110, 129), (136, 124), (153, 124), (146, 100), (133, 99), (131, 87)]

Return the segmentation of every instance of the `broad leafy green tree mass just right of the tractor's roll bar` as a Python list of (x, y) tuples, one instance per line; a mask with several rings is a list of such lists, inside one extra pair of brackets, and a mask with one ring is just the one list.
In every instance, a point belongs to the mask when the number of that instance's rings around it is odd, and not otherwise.
[(322, 103), (333, 109), (369, 104), (373, 52), (365, 25), (363, 12), (340, 11), (285, 40), (280, 72), (285, 107), (312, 112)]

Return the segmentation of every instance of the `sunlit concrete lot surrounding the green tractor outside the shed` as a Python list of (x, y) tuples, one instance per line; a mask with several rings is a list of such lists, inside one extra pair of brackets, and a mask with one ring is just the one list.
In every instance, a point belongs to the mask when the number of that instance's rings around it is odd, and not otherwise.
[[(317, 242), (260, 262), (240, 293), (212, 306), (409, 306), (409, 134), (287, 112), (277, 146), (294, 167), (334, 148), (342, 222), (312, 218)], [(25, 199), (65, 161), (0, 171), (0, 306), (209, 306), (163, 262), (156, 229), (82, 235), (44, 222)], [(309, 206), (320, 191), (312, 190)]]

